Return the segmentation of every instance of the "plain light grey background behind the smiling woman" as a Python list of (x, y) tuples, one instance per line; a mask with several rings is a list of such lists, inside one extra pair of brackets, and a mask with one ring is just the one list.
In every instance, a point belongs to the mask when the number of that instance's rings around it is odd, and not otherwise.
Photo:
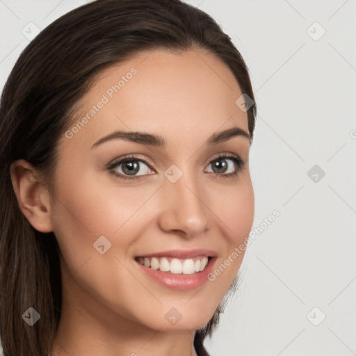
[[(44, 29), (85, 2), (0, 0), (1, 88), (29, 22)], [(254, 227), (281, 214), (249, 245), (243, 282), (207, 349), (356, 355), (356, 1), (187, 2), (223, 26), (250, 68)]]

